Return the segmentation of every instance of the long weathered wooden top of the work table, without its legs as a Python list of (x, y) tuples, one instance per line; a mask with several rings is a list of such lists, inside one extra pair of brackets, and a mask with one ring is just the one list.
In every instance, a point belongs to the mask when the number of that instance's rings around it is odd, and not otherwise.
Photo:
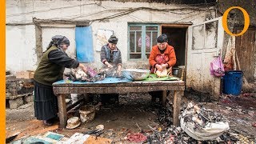
[(183, 81), (134, 81), (120, 83), (55, 82), (54, 94), (110, 94), (148, 92), (158, 90), (185, 90)]

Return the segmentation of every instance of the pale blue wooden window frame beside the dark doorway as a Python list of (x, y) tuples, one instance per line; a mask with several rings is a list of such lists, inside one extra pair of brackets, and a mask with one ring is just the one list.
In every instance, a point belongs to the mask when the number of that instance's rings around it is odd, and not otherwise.
[[(142, 27), (142, 49), (141, 49), (141, 58), (130, 58), (130, 27), (131, 26), (141, 26)], [(127, 58), (128, 61), (142, 61), (142, 60), (147, 60), (148, 58), (146, 58), (146, 27), (147, 26), (154, 26), (154, 27), (158, 27), (158, 34), (160, 34), (160, 24), (156, 24), (156, 23), (129, 23), (128, 24), (128, 50), (127, 50)], [(150, 51), (152, 49), (152, 46), (154, 46), (152, 40), (152, 35), (150, 35)], [(152, 46), (151, 46), (152, 45)]]

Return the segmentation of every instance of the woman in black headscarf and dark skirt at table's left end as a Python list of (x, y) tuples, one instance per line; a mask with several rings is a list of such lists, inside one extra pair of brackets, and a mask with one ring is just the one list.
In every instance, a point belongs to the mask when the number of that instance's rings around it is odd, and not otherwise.
[(80, 67), (83, 71), (87, 71), (86, 66), (66, 54), (70, 46), (68, 38), (55, 35), (51, 39), (34, 72), (34, 115), (45, 125), (52, 125), (57, 117), (58, 100), (54, 95), (52, 84), (63, 79), (65, 67)]

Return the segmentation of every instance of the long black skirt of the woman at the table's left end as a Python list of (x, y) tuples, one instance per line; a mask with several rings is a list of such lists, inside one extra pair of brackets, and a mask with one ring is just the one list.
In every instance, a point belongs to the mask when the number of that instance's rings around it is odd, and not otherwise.
[(39, 120), (57, 117), (58, 99), (52, 86), (34, 81), (34, 116)]

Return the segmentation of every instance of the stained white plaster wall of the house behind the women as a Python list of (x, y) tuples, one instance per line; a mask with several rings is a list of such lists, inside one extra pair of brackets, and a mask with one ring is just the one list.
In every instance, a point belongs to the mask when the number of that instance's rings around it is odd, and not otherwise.
[[(143, 8), (144, 7), (144, 8)], [(145, 8), (146, 7), (146, 8)], [(135, 10), (135, 8), (140, 8)], [(152, 9), (154, 10), (148, 10)], [(159, 11), (158, 9), (161, 9)], [(169, 9), (182, 9), (170, 10)], [(129, 10), (134, 10), (129, 12)], [(213, 11), (213, 10), (212, 10)], [(122, 16), (112, 18), (116, 14)], [(206, 15), (209, 15), (207, 8), (199, 10), (198, 7), (147, 3), (147, 2), (94, 2), (94, 1), (66, 1), (66, 0), (6, 0), (6, 68), (12, 71), (31, 70), (36, 68), (37, 55), (35, 51), (35, 29), (32, 18), (38, 19), (65, 19), (65, 20), (90, 20), (93, 30), (94, 66), (98, 66), (99, 52), (96, 49), (96, 36), (98, 29), (114, 30), (119, 38), (118, 48), (122, 51), (122, 60), (127, 67), (141, 66), (136, 62), (127, 61), (128, 22), (144, 23), (175, 23), (175, 22), (203, 22)], [(98, 19), (110, 17), (99, 22)], [(16, 26), (20, 25), (20, 26)], [(18, 31), (14, 31), (17, 30)], [(42, 50), (50, 42), (50, 38), (58, 33), (54, 26), (42, 29)], [(66, 34), (71, 40), (70, 56), (75, 55), (74, 29), (60, 32)], [(14, 44), (13, 38), (17, 39)], [(29, 43), (27, 42), (29, 39)], [(17, 46), (22, 50), (16, 50)], [(71, 48), (72, 47), (72, 48)], [(12, 57), (14, 54), (19, 55)], [(139, 61), (138, 61), (139, 62)], [(139, 62), (148, 64), (147, 60)]]

